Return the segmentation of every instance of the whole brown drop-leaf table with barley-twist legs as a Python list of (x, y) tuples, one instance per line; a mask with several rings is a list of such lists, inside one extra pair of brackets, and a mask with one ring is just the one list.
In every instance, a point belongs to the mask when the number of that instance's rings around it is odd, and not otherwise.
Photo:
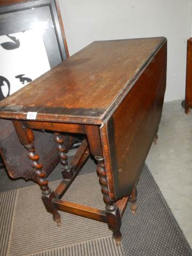
[[(119, 243), (127, 200), (135, 203), (135, 185), (157, 139), (166, 50), (164, 37), (93, 42), (0, 102), (0, 118), (12, 119), (34, 167), (46, 210), (58, 224), (58, 210), (107, 222)], [(37, 113), (35, 120), (27, 119), (29, 111)], [(63, 180), (54, 191), (44, 177), (31, 129), (55, 134)], [(85, 136), (70, 164), (60, 132)], [(105, 211), (61, 199), (90, 154), (97, 161)], [(135, 208), (134, 204), (134, 213)]]

